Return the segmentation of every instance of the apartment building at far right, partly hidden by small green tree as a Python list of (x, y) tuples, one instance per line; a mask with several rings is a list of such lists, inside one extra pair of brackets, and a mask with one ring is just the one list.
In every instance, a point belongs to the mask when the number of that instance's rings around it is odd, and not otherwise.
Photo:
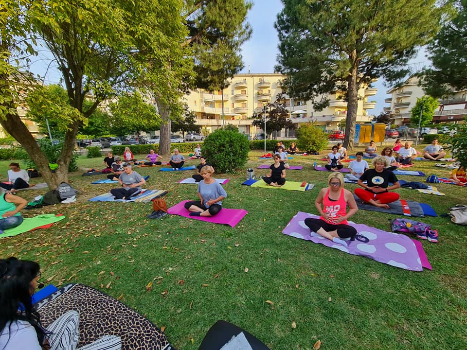
[[(386, 93), (391, 94), (384, 100), (390, 104), (384, 107), (389, 111), (395, 124), (403, 125), (410, 123), (411, 110), (417, 103), (417, 98), (425, 96), (425, 91), (420, 86), (420, 79), (411, 77), (399, 87), (390, 88)], [(467, 115), (467, 90), (454, 91), (447, 99), (438, 100), (438, 109), (434, 112), (434, 123), (459, 123)]]

